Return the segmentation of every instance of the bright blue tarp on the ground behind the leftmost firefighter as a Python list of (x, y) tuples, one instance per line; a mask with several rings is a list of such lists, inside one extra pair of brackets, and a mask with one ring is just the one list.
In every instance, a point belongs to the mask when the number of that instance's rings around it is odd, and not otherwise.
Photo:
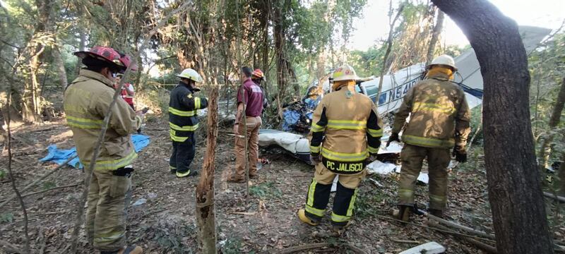
[[(150, 143), (148, 135), (131, 135), (131, 141), (133, 141), (133, 147), (135, 147), (136, 152), (143, 150)], [(67, 159), (76, 155), (76, 147), (71, 149), (58, 149), (57, 145), (49, 145), (47, 147), (49, 152), (47, 156), (40, 159), (40, 162), (55, 162), (57, 164), (63, 164)], [(72, 159), (69, 163), (71, 167), (82, 169), (83, 164), (78, 160), (78, 157)]]

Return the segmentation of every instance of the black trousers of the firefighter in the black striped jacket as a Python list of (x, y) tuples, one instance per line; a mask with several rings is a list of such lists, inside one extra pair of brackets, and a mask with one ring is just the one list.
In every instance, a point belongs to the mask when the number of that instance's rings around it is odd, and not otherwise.
[(172, 142), (172, 155), (169, 159), (169, 167), (171, 170), (176, 170), (179, 173), (186, 173), (190, 170), (190, 164), (194, 159), (194, 152), (196, 151), (196, 140), (194, 140), (194, 133), (184, 142)]

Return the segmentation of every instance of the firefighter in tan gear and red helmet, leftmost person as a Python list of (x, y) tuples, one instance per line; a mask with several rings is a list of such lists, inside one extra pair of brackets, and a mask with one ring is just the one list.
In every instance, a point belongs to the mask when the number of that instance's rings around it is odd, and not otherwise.
[[(78, 158), (90, 174), (90, 159), (114, 97), (114, 77), (131, 64), (129, 56), (109, 47), (75, 52), (86, 66), (66, 88), (66, 121), (76, 143)], [(136, 66), (131, 67), (136, 70)], [(105, 141), (96, 159), (88, 191), (86, 234), (100, 253), (142, 253), (141, 247), (126, 246), (126, 207), (131, 200), (131, 164), (137, 154), (131, 133), (141, 126), (141, 117), (123, 99), (112, 107)]]

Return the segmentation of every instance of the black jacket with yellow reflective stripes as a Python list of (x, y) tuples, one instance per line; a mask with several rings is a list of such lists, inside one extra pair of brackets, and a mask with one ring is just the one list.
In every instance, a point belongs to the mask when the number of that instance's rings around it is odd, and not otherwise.
[(198, 109), (208, 107), (208, 99), (196, 97), (194, 91), (180, 82), (169, 100), (169, 134), (173, 141), (184, 142), (198, 129)]

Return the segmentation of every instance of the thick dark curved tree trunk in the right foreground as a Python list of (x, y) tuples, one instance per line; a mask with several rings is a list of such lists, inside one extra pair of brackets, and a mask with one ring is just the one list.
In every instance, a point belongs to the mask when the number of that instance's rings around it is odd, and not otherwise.
[(481, 66), (484, 160), (496, 248), (553, 253), (528, 108), (528, 57), (518, 26), (485, 0), (432, 1), (463, 30)]

